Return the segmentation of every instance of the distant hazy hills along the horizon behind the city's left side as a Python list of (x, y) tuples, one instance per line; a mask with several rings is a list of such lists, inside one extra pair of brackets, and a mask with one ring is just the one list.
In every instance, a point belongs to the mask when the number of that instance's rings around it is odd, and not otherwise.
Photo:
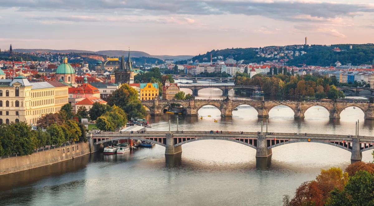
[[(25, 52), (25, 53), (32, 53), (32, 52), (51, 52), (51, 53), (86, 53), (86, 54), (100, 54), (109, 57), (120, 57), (122, 54), (127, 56), (128, 51), (125, 50), (102, 50), (102, 51), (86, 51), (86, 50), (75, 50), (75, 49), (65, 49), (65, 50), (56, 50), (56, 49), (13, 49), (15, 52)], [(150, 55), (146, 52), (142, 51), (130, 51), (131, 57), (151, 57), (157, 58), (161, 60), (165, 60), (167, 58), (172, 58), (175, 61), (180, 60), (187, 60), (193, 57), (193, 55)]]

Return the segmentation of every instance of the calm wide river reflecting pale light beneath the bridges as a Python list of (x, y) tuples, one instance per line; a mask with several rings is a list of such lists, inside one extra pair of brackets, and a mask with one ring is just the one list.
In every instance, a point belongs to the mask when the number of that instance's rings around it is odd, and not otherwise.
[[(230, 91), (232, 92), (232, 91)], [(220, 98), (221, 90), (199, 91), (198, 98)], [(230, 93), (230, 96), (233, 96)], [(211, 117), (208, 117), (211, 115)], [(269, 131), (354, 134), (373, 136), (374, 121), (349, 107), (340, 120), (330, 120), (323, 107), (311, 107), (295, 120), (286, 106), (269, 112)], [(176, 129), (175, 115), (148, 116), (152, 128)], [(250, 106), (240, 106), (232, 117), (221, 118), (212, 106), (199, 117), (181, 116), (180, 130), (258, 131), (261, 121)], [(217, 119), (218, 122), (214, 122)], [(100, 152), (46, 167), (0, 176), (0, 205), (282, 205), (302, 182), (321, 169), (350, 164), (350, 152), (321, 143), (292, 143), (273, 148), (267, 159), (255, 158), (248, 146), (223, 140), (200, 140), (182, 146), (176, 157), (165, 148), (139, 148), (129, 154)], [(363, 161), (373, 160), (371, 151)]]

